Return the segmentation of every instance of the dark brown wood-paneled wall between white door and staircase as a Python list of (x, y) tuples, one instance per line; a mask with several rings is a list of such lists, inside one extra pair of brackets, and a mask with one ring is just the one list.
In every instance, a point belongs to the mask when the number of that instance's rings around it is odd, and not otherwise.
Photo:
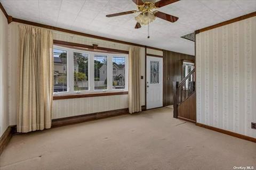
[(163, 105), (173, 105), (173, 81), (182, 80), (182, 60), (195, 61), (192, 55), (163, 50)]

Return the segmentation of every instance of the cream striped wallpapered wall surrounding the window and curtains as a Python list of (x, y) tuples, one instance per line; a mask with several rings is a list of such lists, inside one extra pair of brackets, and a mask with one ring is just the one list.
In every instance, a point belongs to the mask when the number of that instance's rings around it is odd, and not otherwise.
[[(17, 121), (17, 94), (18, 94), (18, 50), (20, 23), (9, 24), (9, 114), (10, 125)], [(106, 40), (72, 35), (70, 33), (53, 31), (56, 40), (79, 44), (98, 44), (100, 47), (129, 50), (130, 45), (114, 43)], [(145, 48), (141, 48), (141, 75), (145, 78)], [(145, 79), (141, 80), (141, 103), (145, 105)], [(100, 104), (100, 105), (99, 105)], [(53, 101), (53, 118), (68, 117), (95, 112), (110, 111), (128, 107), (128, 95), (91, 97), (83, 99), (66, 99)]]

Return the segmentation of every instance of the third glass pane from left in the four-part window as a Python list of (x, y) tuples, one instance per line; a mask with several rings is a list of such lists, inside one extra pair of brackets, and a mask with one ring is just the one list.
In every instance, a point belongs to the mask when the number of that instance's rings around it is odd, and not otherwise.
[(94, 55), (94, 89), (108, 89), (108, 62), (106, 55)]

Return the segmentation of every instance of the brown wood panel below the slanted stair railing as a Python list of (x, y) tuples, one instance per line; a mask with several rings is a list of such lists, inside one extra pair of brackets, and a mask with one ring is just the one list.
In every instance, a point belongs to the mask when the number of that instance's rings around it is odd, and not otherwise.
[(178, 105), (178, 118), (180, 117), (190, 122), (196, 122), (196, 92)]

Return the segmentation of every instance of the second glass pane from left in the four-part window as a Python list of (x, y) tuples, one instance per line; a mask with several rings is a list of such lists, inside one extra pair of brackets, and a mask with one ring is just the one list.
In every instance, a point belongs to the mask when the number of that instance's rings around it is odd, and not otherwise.
[(89, 90), (89, 55), (74, 52), (74, 90)]

